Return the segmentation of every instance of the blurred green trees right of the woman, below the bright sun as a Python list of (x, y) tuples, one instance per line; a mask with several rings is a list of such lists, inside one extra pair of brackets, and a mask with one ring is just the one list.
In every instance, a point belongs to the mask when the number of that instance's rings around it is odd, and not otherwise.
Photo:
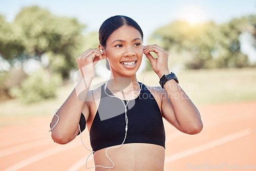
[(256, 19), (252, 18), (256, 16), (236, 18), (222, 25), (176, 21), (156, 30), (149, 43), (175, 52), (188, 69), (248, 67), (248, 57), (240, 51), (239, 36), (256, 30)]

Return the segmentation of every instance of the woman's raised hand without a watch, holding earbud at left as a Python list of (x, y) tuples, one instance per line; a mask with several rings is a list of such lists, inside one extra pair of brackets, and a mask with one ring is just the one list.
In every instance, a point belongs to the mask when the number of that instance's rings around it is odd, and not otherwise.
[(99, 60), (105, 59), (106, 56), (98, 49), (88, 49), (76, 58), (80, 75), (83, 78), (94, 77), (94, 66)]

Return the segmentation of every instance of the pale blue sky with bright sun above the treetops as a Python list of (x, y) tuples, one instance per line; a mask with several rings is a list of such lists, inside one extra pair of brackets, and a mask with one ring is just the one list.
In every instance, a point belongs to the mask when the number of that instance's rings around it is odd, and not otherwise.
[(113, 15), (126, 15), (140, 25), (145, 39), (157, 28), (178, 19), (192, 24), (206, 20), (224, 23), (234, 17), (256, 14), (256, 0), (0, 0), (0, 14), (12, 22), (21, 8), (31, 5), (55, 15), (76, 17), (87, 25), (86, 32), (98, 31), (104, 20)]

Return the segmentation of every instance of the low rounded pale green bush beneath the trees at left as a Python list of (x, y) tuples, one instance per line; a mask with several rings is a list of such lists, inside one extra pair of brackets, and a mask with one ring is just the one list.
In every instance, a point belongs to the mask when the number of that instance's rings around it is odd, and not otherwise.
[(50, 75), (46, 70), (41, 69), (28, 76), (20, 88), (12, 88), (11, 95), (24, 103), (38, 102), (55, 97), (60, 84), (60, 75)]

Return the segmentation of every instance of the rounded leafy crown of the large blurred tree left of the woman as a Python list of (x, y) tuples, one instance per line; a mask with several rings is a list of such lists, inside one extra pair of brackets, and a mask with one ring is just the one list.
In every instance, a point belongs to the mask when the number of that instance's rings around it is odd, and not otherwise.
[[(76, 18), (52, 15), (48, 10), (36, 6), (23, 8), (15, 17), (14, 24), (20, 28), (22, 44), (28, 57), (41, 58), (42, 54), (51, 54), (50, 57), (62, 57), (62, 66), (54, 68), (50, 63), (48, 69), (57, 71), (63, 78), (75, 68), (77, 50), (82, 44), (81, 32), (84, 25), (79, 24)], [(59, 64), (60, 65), (60, 64)]]

